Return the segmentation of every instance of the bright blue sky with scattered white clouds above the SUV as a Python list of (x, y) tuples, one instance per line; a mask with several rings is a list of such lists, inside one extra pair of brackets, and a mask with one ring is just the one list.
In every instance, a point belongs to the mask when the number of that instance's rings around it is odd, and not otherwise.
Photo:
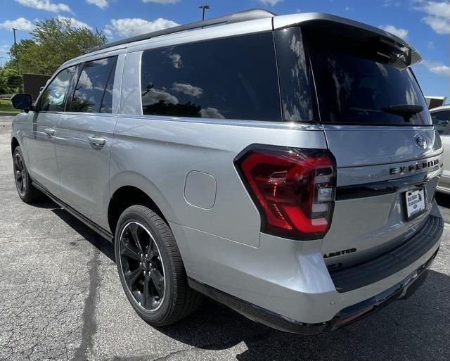
[(207, 18), (259, 7), (278, 14), (321, 11), (383, 27), (422, 55), (413, 69), (424, 93), (450, 102), (450, 1), (442, 0), (0, 0), (0, 65), (8, 60), (12, 27), (20, 29), (20, 40), (30, 37), (36, 20), (63, 16), (113, 40), (199, 20), (200, 4), (211, 6)]

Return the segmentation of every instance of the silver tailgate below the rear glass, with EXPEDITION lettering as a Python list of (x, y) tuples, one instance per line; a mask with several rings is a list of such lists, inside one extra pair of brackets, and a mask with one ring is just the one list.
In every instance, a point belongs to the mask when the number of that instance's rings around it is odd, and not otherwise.
[[(427, 139), (427, 148), (416, 145), (418, 134)], [(326, 126), (326, 137), (338, 170), (323, 255), (328, 266), (347, 267), (397, 246), (418, 230), (442, 173), (442, 148), (432, 128)], [(406, 192), (418, 186), (425, 188), (428, 212), (408, 221)]]

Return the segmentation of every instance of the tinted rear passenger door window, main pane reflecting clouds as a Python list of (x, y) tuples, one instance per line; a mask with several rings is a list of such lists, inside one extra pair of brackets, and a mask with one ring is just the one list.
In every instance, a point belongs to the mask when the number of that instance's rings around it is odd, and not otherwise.
[(114, 64), (115, 57), (84, 63), (77, 87), (75, 87), (70, 111), (81, 113), (100, 111), (105, 86), (108, 84), (108, 77)]

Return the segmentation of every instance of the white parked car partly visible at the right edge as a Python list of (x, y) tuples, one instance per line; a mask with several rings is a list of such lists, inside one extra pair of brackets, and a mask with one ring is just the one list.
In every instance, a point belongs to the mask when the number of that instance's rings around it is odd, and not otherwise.
[(444, 147), (444, 172), (437, 184), (437, 191), (450, 194), (450, 105), (431, 109), (430, 113)]

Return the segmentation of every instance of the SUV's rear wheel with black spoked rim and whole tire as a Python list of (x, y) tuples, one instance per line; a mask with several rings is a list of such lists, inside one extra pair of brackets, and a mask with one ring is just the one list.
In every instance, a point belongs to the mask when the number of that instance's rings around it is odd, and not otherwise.
[(152, 326), (177, 322), (200, 305), (202, 296), (188, 285), (172, 231), (145, 205), (131, 205), (120, 215), (115, 258), (129, 303)]

